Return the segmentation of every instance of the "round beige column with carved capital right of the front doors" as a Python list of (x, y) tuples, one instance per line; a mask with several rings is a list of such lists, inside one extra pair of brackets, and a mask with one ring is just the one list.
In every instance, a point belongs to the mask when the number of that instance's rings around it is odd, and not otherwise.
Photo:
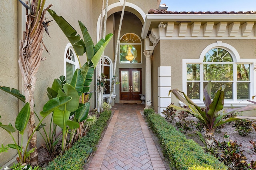
[(151, 108), (148, 106), (147, 102), (152, 102), (152, 94), (151, 94), (151, 56), (153, 54), (153, 50), (145, 50), (143, 52), (146, 58), (146, 69), (145, 69), (145, 97), (146, 97), (146, 108)]

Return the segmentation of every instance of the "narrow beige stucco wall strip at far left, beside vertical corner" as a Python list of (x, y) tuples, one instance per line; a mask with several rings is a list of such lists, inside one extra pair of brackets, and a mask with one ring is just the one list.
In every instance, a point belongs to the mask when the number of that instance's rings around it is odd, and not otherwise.
[[(14, 0), (0, 1), (0, 86), (9, 86), (18, 89), (18, 2)], [(18, 114), (18, 100), (0, 90), (0, 122), (4, 125), (15, 125)], [(10, 135), (0, 128), (0, 145), (14, 143)], [(18, 133), (14, 133), (18, 139)], [(0, 154), (0, 167), (14, 158), (15, 150)]]

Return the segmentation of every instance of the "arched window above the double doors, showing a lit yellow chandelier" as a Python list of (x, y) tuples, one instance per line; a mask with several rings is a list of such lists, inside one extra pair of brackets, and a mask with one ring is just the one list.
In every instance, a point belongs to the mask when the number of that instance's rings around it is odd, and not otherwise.
[(120, 39), (120, 63), (142, 63), (141, 40), (134, 33), (127, 33)]

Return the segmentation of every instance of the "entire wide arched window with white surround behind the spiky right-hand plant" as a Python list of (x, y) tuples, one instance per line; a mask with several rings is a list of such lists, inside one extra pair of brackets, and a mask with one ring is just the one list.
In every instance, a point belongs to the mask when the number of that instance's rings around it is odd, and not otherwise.
[(183, 59), (183, 91), (195, 103), (203, 104), (204, 87), (211, 80), (212, 99), (216, 90), (225, 84), (224, 106), (246, 105), (246, 100), (252, 100), (255, 95), (255, 63), (255, 59), (240, 59), (234, 47), (217, 41), (202, 51), (200, 59)]

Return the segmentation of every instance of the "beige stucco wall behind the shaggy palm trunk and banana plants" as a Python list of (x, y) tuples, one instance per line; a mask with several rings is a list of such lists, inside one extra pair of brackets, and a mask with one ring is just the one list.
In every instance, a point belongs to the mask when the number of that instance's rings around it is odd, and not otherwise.
[[(8, 1), (8, 2), (6, 2)], [(63, 16), (77, 31), (82, 35), (78, 20), (82, 21), (86, 25), (89, 33), (92, 35), (93, 21), (92, 21), (92, 0), (78, 0), (76, 3), (73, 1), (63, 0), (47, 0), (45, 7), (49, 4), (53, 4), (51, 7), (58, 15)], [(0, 86), (10, 86), (18, 89), (18, 33), (21, 27), (18, 27), (18, 1), (5, 0), (0, 1)], [(22, 6), (22, 8), (24, 8)], [(22, 17), (25, 17), (24, 15)], [(52, 20), (51, 16), (46, 12), (46, 20)], [(24, 23), (23, 23), (24, 24)], [(34, 100), (35, 111), (39, 113), (42, 111), (42, 107), (48, 101), (46, 94), (46, 88), (52, 85), (55, 78), (64, 75), (64, 53), (66, 45), (69, 43), (66, 36), (62, 33), (61, 29), (52, 21), (48, 26), (50, 37), (44, 34), (44, 44), (48, 49), (50, 55), (44, 51), (43, 57), (47, 57), (45, 61), (40, 64), (40, 68), (36, 74), (37, 82), (35, 86)], [(80, 61), (83, 64), (86, 61), (86, 55), (80, 57)], [(92, 83), (91, 90), (94, 89), (94, 82)], [(20, 88), (21, 93), (23, 88)], [(0, 115), (1, 122), (8, 124), (9, 122), (14, 125), (14, 117), (18, 114), (18, 100), (9, 94), (0, 91)], [(92, 107), (94, 107), (94, 99), (92, 98)], [(45, 123), (49, 124), (49, 118), (45, 119)], [(48, 131), (48, 130), (47, 130)], [(1, 139), (0, 144), (13, 143), (9, 140), (8, 133), (5, 133), (0, 129)], [(40, 147), (44, 141), (38, 133), (38, 147)], [(15, 135), (18, 139), (18, 135)], [(24, 136), (26, 141), (26, 135)], [(8, 160), (13, 158), (15, 154), (13, 152), (0, 154), (0, 166), (5, 164)]]

